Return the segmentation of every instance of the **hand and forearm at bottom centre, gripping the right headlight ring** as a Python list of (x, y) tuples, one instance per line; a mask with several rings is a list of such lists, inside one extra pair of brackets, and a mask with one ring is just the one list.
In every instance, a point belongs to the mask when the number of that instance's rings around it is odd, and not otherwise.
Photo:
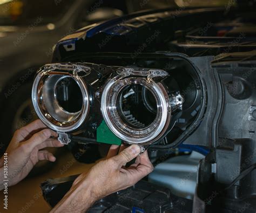
[[(100, 198), (131, 187), (153, 171), (147, 152), (139, 155), (137, 145), (124, 148), (120, 147), (123, 150), (118, 154), (119, 146), (112, 145), (106, 160), (97, 163), (88, 173), (79, 175), (51, 212), (85, 212)], [(125, 168), (124, 165), (134, 158), (135, 163)]]

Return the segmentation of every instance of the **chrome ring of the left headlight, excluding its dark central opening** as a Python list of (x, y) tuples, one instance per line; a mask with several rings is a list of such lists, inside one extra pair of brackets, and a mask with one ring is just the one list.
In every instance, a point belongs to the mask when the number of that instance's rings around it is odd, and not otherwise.
[[(81, 71), (87, 73), (88, 70), (77, 65), (46, 65), (38, 72), (33, 82), (32, 102), (35, 111), (46, 126), (57, 132), (71, 132), (77, 129), (89, 114), (89, 93), (85, 81), (78, 75)], [(76, 113), (66, 112), (55, 98), (56, 86), (64, 78), (75, 80), (82, 93), (83, 105)]]

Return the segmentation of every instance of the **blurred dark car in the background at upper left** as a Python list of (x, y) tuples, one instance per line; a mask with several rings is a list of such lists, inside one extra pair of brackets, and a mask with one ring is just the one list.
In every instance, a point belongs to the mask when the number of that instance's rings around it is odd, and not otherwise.
[(0, 138), (6, 148), (16, 129), (36, 119), (31, 102), (36, 70), (56, 42), (82, 26), (122, 16), (125, 3), (103, 0), (0, 1)]

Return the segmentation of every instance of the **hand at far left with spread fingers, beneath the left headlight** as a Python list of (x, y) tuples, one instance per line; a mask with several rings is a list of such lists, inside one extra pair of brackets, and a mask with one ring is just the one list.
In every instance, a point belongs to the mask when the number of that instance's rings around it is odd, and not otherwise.
[[(28, 126), (16, 130), (5, 153), (8, 153), (8, 186), (15, 185), (23, 180), (38, 161), (48, 160), (54, 162), (55, 156), (46, 147), (62, 147), (57, 133), (47, 129), (42, 121), (36, 120)], [(0, 176), (3, 177), (4, 159), (0, 160)], [(3, 178), (1, 178), (3, 180)], [(3, 184), (0, 184), (0, 190)]]

